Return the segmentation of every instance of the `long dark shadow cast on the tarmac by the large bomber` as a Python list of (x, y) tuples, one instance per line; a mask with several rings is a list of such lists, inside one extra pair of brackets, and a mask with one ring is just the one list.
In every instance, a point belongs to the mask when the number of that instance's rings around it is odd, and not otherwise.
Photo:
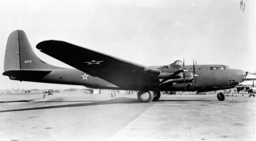
[[(158, 100), (155, 102), (164, 101), (211, 101), (211, 100)], [(22, 109), (12, 109), (12, 110), (2, 110), (0, 112), (13, 112), (13, 111), (26, 111), (26, 110), (40, 110), (40, 109), (51, 109), (51, 108), (65, 108), (65, 107), (80, 107), (80, 106), (94, 106), (94, 105), (108, 105), (108, 104), (132, 104), (140, 103), (137, 98), (127, 98), (118, 97), (115, 99), (104, 100), (104, 101), (27, 101), (27, 102), (89, 102), (89, 103), (79, 103), (79, 104), (66, 104), (66, 105), (56, 105), (56, 106), (44, 106), (44, 107), (33, 107), (33, 108), (22, 108)]]

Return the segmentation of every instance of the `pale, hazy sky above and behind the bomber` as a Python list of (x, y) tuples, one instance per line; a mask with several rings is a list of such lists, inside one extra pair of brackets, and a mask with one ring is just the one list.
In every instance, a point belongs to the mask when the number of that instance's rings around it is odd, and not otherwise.
[[(243, 0), (1, 0), (0, 72), (9, 34), (26, 32), (36, 55), (45, 40), (62, 40), (146, 66), (223, 64), (256, 71), (255, 1)], [(19, 82), (0, 75), (0, 89), (83, 88)]]

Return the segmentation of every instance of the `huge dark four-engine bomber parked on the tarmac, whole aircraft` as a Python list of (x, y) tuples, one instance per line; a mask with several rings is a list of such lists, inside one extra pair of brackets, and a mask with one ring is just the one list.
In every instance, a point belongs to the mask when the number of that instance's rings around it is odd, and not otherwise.
[[(140, 102), (158, 100), (160, 91), (201, 93), (234, 88), (247, 75), (227, 65), (184, 65), (184, 59), (170, 65), (144, 66), (64, 41), (42, 41), (36, 48), (75, 69), (43, 62), (32, 50), (26, 33), (16, 30), (8, 37), (3, 75), (20, 82), (136, 90)], [(225, 95), (218, 93), (217, 98), (225, 100)]]

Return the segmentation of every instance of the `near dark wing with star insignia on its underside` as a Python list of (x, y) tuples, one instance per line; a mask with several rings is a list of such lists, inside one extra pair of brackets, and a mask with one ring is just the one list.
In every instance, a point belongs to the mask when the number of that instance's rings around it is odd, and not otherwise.
[(118, 87), (151, 87), (159, 82), (158, 69), (126, 61), (63, 41), (43, 41), (36, 46), (80, 71), (102, 78)]

